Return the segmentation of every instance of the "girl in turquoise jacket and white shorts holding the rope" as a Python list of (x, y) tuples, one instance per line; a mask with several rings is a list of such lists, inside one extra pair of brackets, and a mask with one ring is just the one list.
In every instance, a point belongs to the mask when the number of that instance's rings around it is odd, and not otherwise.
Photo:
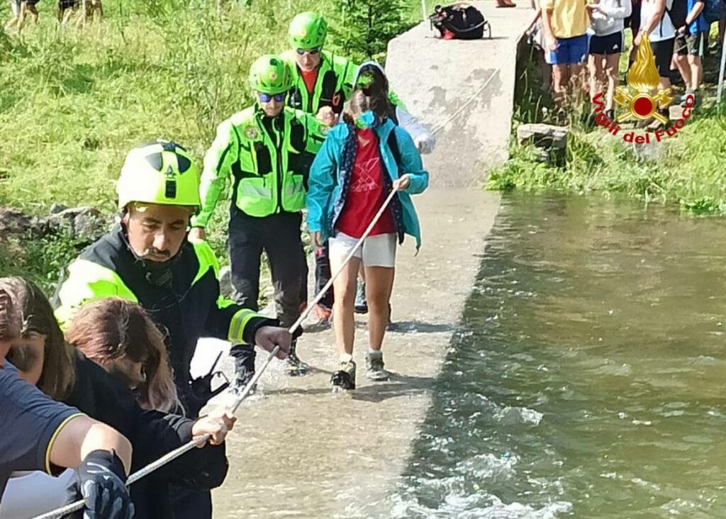
[[(366, 375), (369, 380), (388, 380), (381, 346), (388, 324), (396, 240), (403, 242), (405, 233), (415, 237), (417, 250), (421, 245), (411, 195), (426, 189), (428, 172), (423, 170), (411, 136), (387, 117), (388, 105), (378, 95), (381, 92), (383, 86), (375, 83), (353, 92), (343, 113), (344, 123), (330, 130), (309, 179), (311, 243), (320, 248), (330, 238), (330, 267), (333, 273), (340, 271), (333, 284), (333, 327), (340, 366), (331, 383), (343, 389), (356, 387), (354, 300), (359, 266), (365, 269), (369, 308)], [(391, 189), (396, 195), (356, 248)], [(354, 256), (343, 264), (353, 250)]]

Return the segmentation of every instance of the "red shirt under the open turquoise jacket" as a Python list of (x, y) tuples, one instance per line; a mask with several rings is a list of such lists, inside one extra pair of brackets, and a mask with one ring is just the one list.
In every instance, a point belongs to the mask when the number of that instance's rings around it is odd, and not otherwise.
[[(378, 136), (370, 128), (356, 130), (356, 160), (353, 166), (346, 205), (335, 224), (338, 231), (348, 236), (362, 237), (380, 206), (386, 200), (383, 175), (387, 174), (380, 163)], [(396, 232), (391, 208), (386, 208), (373, 226), (370, 236)]]

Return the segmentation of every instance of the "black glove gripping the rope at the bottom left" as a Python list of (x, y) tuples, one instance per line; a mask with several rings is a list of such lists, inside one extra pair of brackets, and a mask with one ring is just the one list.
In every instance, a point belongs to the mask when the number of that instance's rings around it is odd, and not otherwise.
[(131, 519), (134, 504), (126, 488), (126, 472), (115, 452), (93, 451), (76, 471), (70, 489), (73, 500), (83, 499), (84, 519)]

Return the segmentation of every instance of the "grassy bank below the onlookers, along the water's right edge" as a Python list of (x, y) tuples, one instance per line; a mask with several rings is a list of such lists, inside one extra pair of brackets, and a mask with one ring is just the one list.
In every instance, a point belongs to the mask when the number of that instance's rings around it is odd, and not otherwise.
[[(628, 33), (627, 33), (628, 34)], [(716, 60), (709, 58), (716, 66)], [(518, 83), (520, 123), (546, 122), (542, 107), (551, 106), (539, 97), (538, 65), (527, 62)], [(621, 59), (621, 71), (627, 58)], [(713, 86), (707, 86), (709, 94)], [(590, 110), (586, 105), (582, 110)], [(492, 172), (492, 189), (568, 189), (576, 192), (624, 192), (643, 200), (680, 203), (682, 207), (705, 213), (726, 213), (726, 118), (722, 107), (694, 110), (693, 118), (677, 138), (652, 144), (661, 147), (657, 157), (643, 158), (641, 150), (621, 142), (601, 128), (588, 130), (581, 114), (571, 118), (566, 167), (555, 168), (537, 163), (535, 150), (513, 144), (511, 159)], [(651, 150), (653, 151), (653, 150)]]

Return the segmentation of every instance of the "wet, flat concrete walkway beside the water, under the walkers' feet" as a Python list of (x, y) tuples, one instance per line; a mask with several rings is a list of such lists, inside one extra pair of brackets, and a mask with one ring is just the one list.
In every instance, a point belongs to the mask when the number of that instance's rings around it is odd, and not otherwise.
[[(411, 240), (399, 248), (391, 301), (396, 324), (384, 345), (386, 365), (396, 375), (388, 383), (365, 379), (366, 327), (359, 316), (358, 389), (334, 395), (333, 333), (306, 332), (300, 355), (319, 372), (290, 379), (274, 361), (261, 393), (240, 407), (227, 447), (229, 475), (213, 492), (216, 518), (389, 515), (382, 511), (384, 499), (430, 404), (431, 384), (473, 285), (499, 195), (430, 189), (415, 203), (423, 248), (417, 257)], [(195, 369), (202, 373), (218, 350), (209, 344), (200, 349)], [(225, 368), (232, 375), (229, 357)]]

